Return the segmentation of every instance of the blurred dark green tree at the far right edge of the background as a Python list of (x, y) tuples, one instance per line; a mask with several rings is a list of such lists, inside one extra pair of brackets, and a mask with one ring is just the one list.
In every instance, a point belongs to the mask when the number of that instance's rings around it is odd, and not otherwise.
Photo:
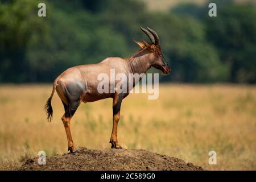
[(232, 82), (256, 82), (256, 9), (230, 4), (207, 18), (207, 34), (224, 63), (230, 65)]

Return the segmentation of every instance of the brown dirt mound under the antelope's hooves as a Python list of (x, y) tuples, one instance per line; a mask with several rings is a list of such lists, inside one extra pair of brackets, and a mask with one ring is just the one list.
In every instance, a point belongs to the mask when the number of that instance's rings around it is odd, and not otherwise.
[(203, 170), (181, 159), (145, 150), (79, 148), (75, 154), (55, 155), (39, 165), (38, 158), (26, 159), (20, 170)]

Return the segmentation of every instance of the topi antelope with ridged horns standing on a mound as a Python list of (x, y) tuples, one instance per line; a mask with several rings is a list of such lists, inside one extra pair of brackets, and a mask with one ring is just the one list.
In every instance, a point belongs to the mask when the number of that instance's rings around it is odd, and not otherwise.
[[(147, 43), (145, 40), (142, 40), (142, 42), (135, 41), (141, 49), (133, 56), (124, 59), (121, 57), (108, 57), (98, 64), (72, 67), (61, 73), (54, 81), (51, 96), (45, 105), (47, 120), (49, 122), (52, 120), (53, 111), (51, 100), (56, 90), (64, 105), (65, 113), (61, 120), (63, 121), (68, 138), (68, 150), (71, 153), (76, 151), (73, 145), (70, 125), (71, 118), (75, 114), (77, 107), (79, 107), (81, 102), (94, 102), (104, 98), (113, 98), (113, 128), (110, 137), (111, 148), (122, 148), (119, 146), (117, 140), (117, 125), (122, 100), (129, 95), (129, 92), (115, 92), (116, 88), (114, 88), (114, 93), (99, 93), (97, 85), (100, 81), (97, 79), (97, 76), (100, 73), (110, 75), (110, 69), (115, 69), (115, 73), (123, 73), (125, 75), (129, 73), (141, 74), (146, 73), (150, 67), (160, 69), (164, 75), (170, 73), (170, 68), (162, 55), (158, 34), (150, 28), (145, 29), (141, 27), (141, 30), (150, 38), (151, 43)], [(129, 81), (135, 86), (139, 80), (136, 81), (133, 79)], [(109, 85), (111, 84), (113, 83), (110, 80)]]

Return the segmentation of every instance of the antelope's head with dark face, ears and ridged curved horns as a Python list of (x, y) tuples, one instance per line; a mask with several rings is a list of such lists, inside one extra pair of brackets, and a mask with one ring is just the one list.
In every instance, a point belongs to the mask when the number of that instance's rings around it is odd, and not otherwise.
[(148, 52), (153, 53), (154, 59), (152, 59), (152, 67), (161, 70), (164, 75), (170, 74), (171, 69), (168, 67), (167, 61), (162, 54), (158, 34), (148, 27), (147, 29), (141, 27), (141, 30), (148, 36), (148, 38), (150, 38), (151, 43), (147, 43), (145, 40), (142, 40), (142, 42), (135, 42), (141, 48), (147, 49)]

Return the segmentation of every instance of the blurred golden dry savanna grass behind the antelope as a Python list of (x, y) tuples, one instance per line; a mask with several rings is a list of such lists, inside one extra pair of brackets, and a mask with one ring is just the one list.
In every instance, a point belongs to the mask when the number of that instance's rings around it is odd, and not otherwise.
[[(13, 169), (24, 154), (67, 152), (55, 93), (53, 121), (43, 106), (52, 85), (0, 86), (0, 169)], [(71, 121), (75, 146), (109, 148), (112, 100), (81, 104)], [(124, 148), (142, 148), (174, 156), (209, 170), (256, 169), (256, 87), (243, 85), (162, 84), (158, 100), (130, 94), (121, 108), (118, 140)], [(217, 165), (208, 152), (217, 152)]]

